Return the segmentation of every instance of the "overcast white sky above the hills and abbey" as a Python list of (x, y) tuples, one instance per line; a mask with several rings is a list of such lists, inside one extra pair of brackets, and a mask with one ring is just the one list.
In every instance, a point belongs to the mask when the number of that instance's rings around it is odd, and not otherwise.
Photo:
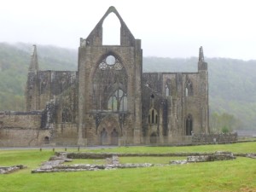
[[(111, 5), (144, 56), (197, 56), (203, 46), (207, 57), (256, 59), (255, 0), (3, 0), (0, 42), (78, 49)], [(103, 29), (119, 31), (116, 20), (109, 15)]]

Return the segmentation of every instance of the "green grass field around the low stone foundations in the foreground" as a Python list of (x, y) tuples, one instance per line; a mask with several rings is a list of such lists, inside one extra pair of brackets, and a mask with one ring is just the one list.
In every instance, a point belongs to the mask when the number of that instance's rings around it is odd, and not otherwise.
[[(64, 148), (63, 148), (64, 150)], [(63, 151), (61, 148), (55, 151)], [(75, 149), (72, 149), (75, 150)], [(214, 152), (256, 153), (256, 143), (228, 145), (205, 145), (195, 147), (129, 147), (106, 149), (80, 149), (92, 152), (119, 153), (180, 153)], [(71, 151), (71, 149), (67, 149)], [(27, 169), (8, 175), (0, 175), (1, 192), (47, 192), (47, 191), (256, 191), (256, 160), (238, 157), (236, 160), (192, 163), (179, 166), (154, 166), (147, 168), (119, 169), (97, 172), (61, 172), (32, 174), (42, 161), (54, 154), (51, 149), (40, 152), (31, 150), (1, 150), (0, 166), (22, 164)], [(168, 160), (184, 158), (121, 157), (120, 162), (167, 163)], [(86, 160), (79, 160), (81, 163)], [(75, 160), (74, 160), (75, 162)], [(93, 160), (91, 160), (93, 162)], [(102, 161), (103, 162), (103, 161)], [(98, 161), (98, 163), (102, 163)], [(132, 163), (132, 162), (131, 162)]]

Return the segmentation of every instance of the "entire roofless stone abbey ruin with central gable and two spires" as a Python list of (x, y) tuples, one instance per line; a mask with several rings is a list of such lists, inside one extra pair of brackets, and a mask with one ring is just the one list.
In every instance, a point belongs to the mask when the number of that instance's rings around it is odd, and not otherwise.
[[(120, 44), (102, 44), (109, 14)], [(209, 134), (208, 72), (200, 48), (196, 73), (143, 73), (141, 40), (110, 7), (80, 38), (78, 71), (40, 71), (36, 45), (26, 112), (0, 112), (0, 146), (192, 143)]]

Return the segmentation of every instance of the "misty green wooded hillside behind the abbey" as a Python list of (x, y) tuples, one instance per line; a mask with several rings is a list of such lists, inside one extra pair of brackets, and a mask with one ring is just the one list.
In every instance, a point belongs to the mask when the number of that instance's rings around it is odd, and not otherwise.
[[(77, 70), (78, 51), (38, 45), (42, 70)], [(32, 44), (0, 44), (0, 110), (24, 110)], [(256, 129), (256, 61), (205, 58), (211, 113), (229, 113), (243, 129)], [(143, 72), (196, 72), (197, 58), (144, 57)]]

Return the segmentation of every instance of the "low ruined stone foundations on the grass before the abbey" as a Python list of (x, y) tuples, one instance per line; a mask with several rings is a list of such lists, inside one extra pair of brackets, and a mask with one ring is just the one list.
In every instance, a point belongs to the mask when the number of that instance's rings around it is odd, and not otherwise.
[[(79, 156), (79, 154), (81, 156)], [(188, 153), (189, 154), (189, 153)], [(148, 167), (148, 166), (170, 166), (170, 165), (183, 165), (192, 162), (208, 162), (208, 161), (216, 161), (216, 160), (235, 160), (236, 156), (231, 152), (223, 152), (217, 151), (215, 153), (194, 153), (193, 155), (187, 156), (187, 160), (171, 160), (169, 164), (133, 164), (119, 163), (119, 155), (122, 154), (83, 154), (83, 153), (56, 153), (55, 156), (49, 158), (49, 161), (44, 162), (41, 167), (37, 170), (33, 170), (32, 173), (39, 172), (81, 172), (81, 171), (98, 171), (98, 170), (111, 170), (111, 169), (124, 169), (124, 168), (137, 168), (137, 167)], [(103, 159), (105, 157), (106, 163), (105, 165), (94, 165), (94, 164), (74, 164), (74, 165), (63, 165), (64, 162), (71, 162), (74, 159), (88, 159), (89, 157), (95, 157), (96, 159)], [(136, 156), (133, 154), (132, 156)], [(137, 156), (143, 156), (142, 154), (138, 154)], [(146, 155), (148, 156), (148, 155)], [(158, 155), (157, 155), (158, 156)], [(161, 156), (161, 155), (160, 155)], [(184, 155), (182, 155), (184, 156)], [(69, 157), (69, 158), (67, 158)], [(87, 158), (84, 158), (87, 157)], [(255, 158), (255, 154), (247, 154), (247, 157)]]

